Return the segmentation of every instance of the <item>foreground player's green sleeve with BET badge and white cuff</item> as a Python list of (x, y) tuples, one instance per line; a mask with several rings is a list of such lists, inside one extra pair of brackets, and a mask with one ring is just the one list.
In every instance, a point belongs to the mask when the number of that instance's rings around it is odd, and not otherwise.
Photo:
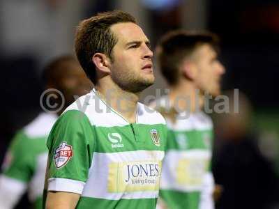
[(93, 127), (81, 111), (66, 111), (47, 139), (48, 191), (82, 194), (93, 157)]

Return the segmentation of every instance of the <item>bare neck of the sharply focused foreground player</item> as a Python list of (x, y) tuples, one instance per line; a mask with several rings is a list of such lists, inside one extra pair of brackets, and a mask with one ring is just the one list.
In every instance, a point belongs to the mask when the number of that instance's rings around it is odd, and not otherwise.
[(96, 84), (96, 90), (102, 100), (112, 107), (129, 123), (135, 123), (137, 118), (137, 102), (140, 95), (123, 91), (110, 79), (101, 79)]

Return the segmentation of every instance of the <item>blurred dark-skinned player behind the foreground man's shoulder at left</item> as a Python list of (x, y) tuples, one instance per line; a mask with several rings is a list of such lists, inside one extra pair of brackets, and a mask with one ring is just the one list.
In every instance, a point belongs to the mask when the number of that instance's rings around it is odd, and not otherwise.
[[(61, 91), (65, 103), (57, 114), (41, 113), (13, 138), (0, 176), (1, 209), (13, 208), (26, 191), (34, 208), (42, 208), (47, 135), (59, 114), (74, 101), (73, 95), (84, 95), (93, 87), (73, 56), (61, 56), (52, 61), (45, 68), (43, 77), (45, 87)], [(59, 96), (52, 99), (57, 107), (61, 107)]]

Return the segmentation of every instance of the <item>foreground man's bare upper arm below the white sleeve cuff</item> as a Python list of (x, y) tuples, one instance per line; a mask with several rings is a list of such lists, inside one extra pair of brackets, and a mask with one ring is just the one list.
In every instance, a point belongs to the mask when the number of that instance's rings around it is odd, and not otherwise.
[(70, 192), (47, 192), (46, 209), (74, 209), (80, 194)]

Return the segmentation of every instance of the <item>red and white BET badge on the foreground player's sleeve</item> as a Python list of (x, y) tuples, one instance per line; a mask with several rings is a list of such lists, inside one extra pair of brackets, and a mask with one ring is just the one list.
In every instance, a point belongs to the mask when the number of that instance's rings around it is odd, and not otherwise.
[(70, 158), (73, 157), (73, 147), (63, 141), (54, 152), (54, 163), (57, 169), (65, 166)]

